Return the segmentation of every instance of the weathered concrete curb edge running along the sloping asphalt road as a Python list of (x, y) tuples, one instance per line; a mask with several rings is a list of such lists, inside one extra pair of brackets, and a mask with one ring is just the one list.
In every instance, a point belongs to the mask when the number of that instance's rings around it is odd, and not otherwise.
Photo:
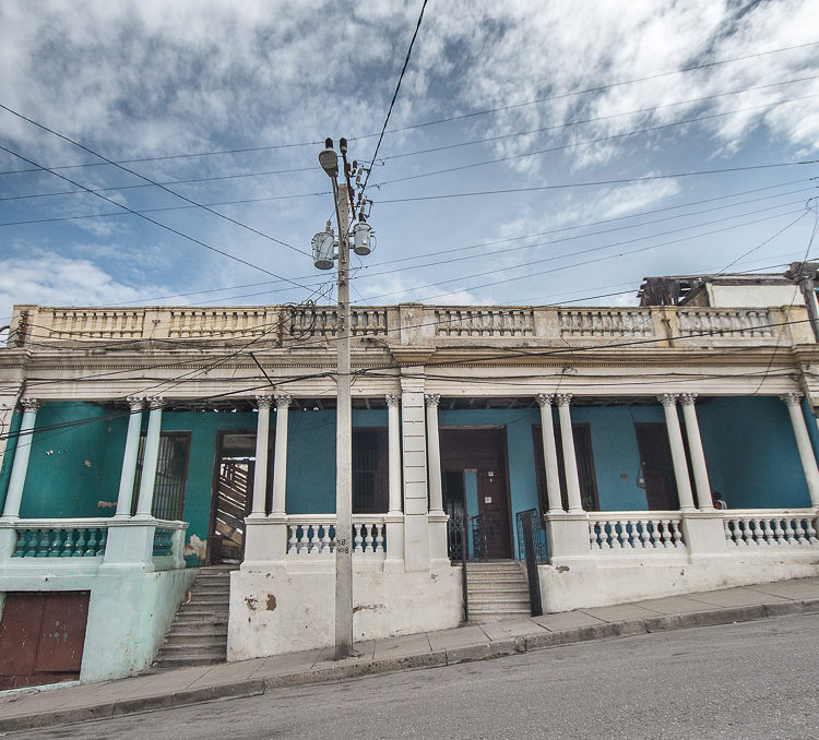
[(186, 689), (182, 691), (158, 696), (140, 699), (123, 699), (107, 702), (96, 706), (57, 709), (48, 713), (19, 715), (2, 720), (3, 732), (36, 729), (55, 725), (70, 725), (95, 719), (111, 719), (126, 715), (189, 706), (217, 699), (241, 699), (259, 696), (274, 689), (325, 681), (363, 678), (380, 673), (394, 673), (402, 670), (416, 670), (454, 666), (460, 663), (474, 660), (491, 660), (509, 655), (530, 653), (533, 651), (559, 647), (582, 642), (608, 640), (612, 637), (628, 637), (653, 632), (685, 630), (697, 626), (715, 626), (735, 622), (751, 622), (774, 617), (791, 614), (819, 613), (819, 598), (799, 601), (776, 601), (773, 604), (751, 605), (745, 607), (725, 607), (708, 611), (695, 611), (684, 614), (662, 614), (622, 622), (603, 622), (591, 626), (573, 628), (559, 632), (544, 632), (526, 637), (510, 637), (490, 643), (465, 645), (450, 649), (432, 651), (420, 655), (410, 655), (396, 658), (382, 658), (364, 663), (324, 666), (297, 673), (283, 673), (265, 679), (248, 679), (234, 683), (226, 683), (201, 689)]

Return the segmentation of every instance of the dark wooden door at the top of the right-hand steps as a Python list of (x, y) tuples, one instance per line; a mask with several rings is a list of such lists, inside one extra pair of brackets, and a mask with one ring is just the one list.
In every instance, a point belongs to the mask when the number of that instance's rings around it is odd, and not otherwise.
[[(480, 527), (486, 542), (486, 557), (492, 559), (510, 558), (512, 540), (509, 517), (506, 428), (442, 429), (440, 442), (444, 480), (450, 477), (450, 474), (463, 476), (464, 470), (476, 472), (478, 510), (467, 513), (470, 517), (480, 516)], [(463, 485), (459, 486), (461, 497), (464, 496), (463, 491)], [(451, 499), (451, 493), (448, 493), (446, 503), (454, 506)], [(462, 500), (460, 505), (464, 510), (467, 508), (465, 500)], [(453, 511), (449, 511), (449, 513), (451, 514)], [(472, 551), (473, 548), (471, 547), (470, 552), (472, 553)]]

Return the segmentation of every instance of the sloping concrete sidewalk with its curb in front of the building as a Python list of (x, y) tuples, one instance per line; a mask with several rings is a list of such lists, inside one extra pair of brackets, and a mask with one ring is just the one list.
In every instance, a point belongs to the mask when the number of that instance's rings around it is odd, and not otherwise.
[(333, 651), (328, 648), (48, 691), (16, 690), (0, 695), (0, 733), (253, 696), (280, 687), (484, 660), (590, 640), (798, 613), (819, 613), (819, 577), (370, 640), (356, 643), (359, 657), (341, 661), (333, 660)]

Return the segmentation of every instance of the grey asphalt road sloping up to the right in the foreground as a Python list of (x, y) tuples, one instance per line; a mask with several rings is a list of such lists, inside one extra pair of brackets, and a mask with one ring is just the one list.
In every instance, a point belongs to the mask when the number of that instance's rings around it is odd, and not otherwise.
[(7, 737), (819, 738), (819, 616), (680, 630)]

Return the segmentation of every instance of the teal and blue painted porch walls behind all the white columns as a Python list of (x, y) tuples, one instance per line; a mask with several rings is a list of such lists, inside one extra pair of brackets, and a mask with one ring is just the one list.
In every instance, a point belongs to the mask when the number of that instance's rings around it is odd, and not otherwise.
[[(701, 398), (698, 416), (712, 488), (731, 508), (807, 506), (802, 473), (787, 409), (778, 398)], [(37, 414), (21, 514), (27, 517), (110, 516), (124, 449), (127, 415), (90, 403), (49, 403)], [(213, 486), (216, 434), (219, 430), (253, 431), (256, 413), (163, 414), (164, 431), (191, 432), (185, 518), (188, 537), (206, 539)], [(96, 419), (62, 430), (58, 423)], [(554, 419), (557, 419), (555, 413)], [(645, 492), (637, 486), (638, 447), (634, 422), (662, 422), (656, 406), (574, 407), (575, 423), (590, 423), (594, 468), (603, 511), (646, 509)], [(503, 426), (509, 451), (511, 515), (537, 506), (537, 481), (532, 426), (539, 409), (441, 410), (442, 427)], [(815, 445), (819, 429), (807, 414)], [(11, 431), (20, 423), (12, 419)], [(355, 427), (387, 427), (387, 410), (354, 410)], [(147, 414), (143, 415), (143, 427)], [(335, 411), (289, 413), (287, 445), (287, 511), (294, 514), (335, 511)], [(275, 413), (271, 415), (271, 431)], [(4, 499), (13, 461), (14, 439), (0, 470)]]

